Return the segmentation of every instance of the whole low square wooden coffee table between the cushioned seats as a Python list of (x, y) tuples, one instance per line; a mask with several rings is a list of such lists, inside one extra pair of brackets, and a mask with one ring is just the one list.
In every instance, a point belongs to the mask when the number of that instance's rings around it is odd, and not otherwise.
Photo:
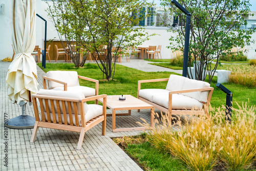
[[(138, 130), (146, 130), (147, 127), (127, 127), (123, 129), (116, 129), (116, 116), (125, 116), (131, 115), (131, 110), (140, 110), (140, 109), (151, 109), (150, 123), (153, 126), (154, 122), (154, 106), (148, 104), (136, 97), (131, 95), (123, 95), (126, 99), (124, 101), (120, 101), (119, 97), (121, 95), (107, 96), (106, 98), (106, 106), (112, 110), (112, 114), (106, 114), (107, 116), (112, 116), (112, 130), (113, 132), (121, 132), (121, 131), (138, 131)], [(102, 99), (99, 99), (102, 102)], [(128, 113), (116, 113), (116, 111), (128, 110)]]

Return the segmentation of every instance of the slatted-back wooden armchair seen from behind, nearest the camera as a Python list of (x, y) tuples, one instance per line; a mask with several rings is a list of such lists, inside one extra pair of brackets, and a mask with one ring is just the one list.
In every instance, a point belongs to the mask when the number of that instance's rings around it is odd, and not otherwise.
[[(100, 98), (103, 98), (103, 106), (86, 103)], [(102, 135), (105, 135), (106, 95), (84, 98), (79, 92), (41, 89), (32, 95), (32, 101), (36, 121), (30, 142), (35, 141), (38, 127), (79, 132), (76, 149), (81, 149), (84, 134), (100, 122)], [(40, 105), (40, 116), (37, 102)]]

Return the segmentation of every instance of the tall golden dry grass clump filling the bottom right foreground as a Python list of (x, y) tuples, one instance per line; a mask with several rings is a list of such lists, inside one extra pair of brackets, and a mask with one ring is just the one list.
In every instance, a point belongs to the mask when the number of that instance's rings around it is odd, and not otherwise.
[(225, 122), (222, 108), (211, 110), (217, 112), (210, 118), (191, 119), (185, 124), (178, 121), (180, 131), (173, 131), (174, 125), (162, 116), (148, 133), (148, 141), (185, 162), (191, 170), (249, 168), (256, 160), (255, 107), (245, 104), (232, 109), (230, 123)]

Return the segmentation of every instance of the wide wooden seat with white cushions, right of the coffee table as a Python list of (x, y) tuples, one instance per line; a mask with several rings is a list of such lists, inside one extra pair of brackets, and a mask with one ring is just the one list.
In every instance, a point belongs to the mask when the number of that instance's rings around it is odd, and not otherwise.
[[(168, 81), (166, 89), (141, 89), (141, 83), (158, 81)], [(169, 120), (172, 120), (172, 115), (209, 116), (208, 106), (213, 91), (207, 82), (173, 74), (169, 78), (138, 81), (138, 99), (168, 113)]]

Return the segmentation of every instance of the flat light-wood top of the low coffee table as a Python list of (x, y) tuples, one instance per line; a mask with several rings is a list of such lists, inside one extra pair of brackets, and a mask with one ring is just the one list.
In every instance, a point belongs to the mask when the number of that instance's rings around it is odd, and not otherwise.
[[(148, 104), (132, 95), (123, 95), (125, 100), (119, 100), (119, 97), (122, 95), (112, 95), (107, 96), (106, 98), (106, 106), (110, 109), (114, 110), (136, 110), (136, 109), (153, 109), (154, 106)], [(103, 99), (99, 99), (102, 102)]]

